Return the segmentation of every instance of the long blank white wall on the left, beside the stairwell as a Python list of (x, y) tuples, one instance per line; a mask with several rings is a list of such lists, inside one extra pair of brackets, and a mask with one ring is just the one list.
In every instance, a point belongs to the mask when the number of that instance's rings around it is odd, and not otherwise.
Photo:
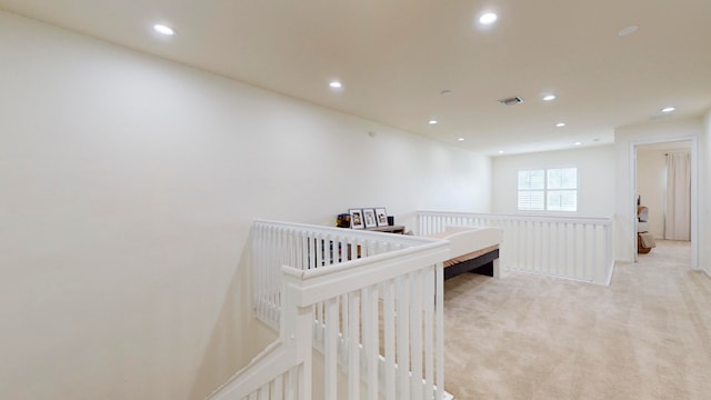
[(204, 398), (264, 346), (256, 218), (490, 211), (485, 157), (2, 12), (0, 54), (2, 399)]

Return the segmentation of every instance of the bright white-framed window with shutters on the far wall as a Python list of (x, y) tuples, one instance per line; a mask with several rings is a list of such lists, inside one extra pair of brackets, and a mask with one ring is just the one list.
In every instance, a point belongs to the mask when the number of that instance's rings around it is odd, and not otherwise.
[[(558, 187), (555, 184), (552, 184), (552, 182), (549, 181), (550, 179), (549, 173), (550, 171), (557, 171), (557, 170), (573, 170), (574, 184), (568, 186), (568, 187), (565, 186)], [(571, 173), (571, 171), (568, 171), (567, 173)], [(578, 171), (578, 167), (530, 168), (530, 169), (518, 170), (517, 172), (517, 210), (522, 212), (551, 212), (551, 213), (578, 212), (578, 209), (579, 209), (578, 192), (580, 191), (579, 177), (580, 174)], [(527, 182), (522, 182), (522, 178), (527, 179)], [(560, 182), (560, 183), (563, 183), (563, 182)], [(559, 207), (553, 207), (550, 203), (551, 198), (549, 196), (551, 193), (555, 193), (555, 192), (562, 193), (562, 192), (571, 192), (571, 191), (573, 192), (572, 209), (560, 209)], [(527, 193), (525, 197), (528, 198), (528, 203), (531, 207), (521, 207), (521, 202), (525, 201), (525, 199), (522, 199), (521, 197), (522, 193)], [(540, 202), (541, 204), (540, 207), (535, 207), (537, 204), (531, 204), (531, 202)]]

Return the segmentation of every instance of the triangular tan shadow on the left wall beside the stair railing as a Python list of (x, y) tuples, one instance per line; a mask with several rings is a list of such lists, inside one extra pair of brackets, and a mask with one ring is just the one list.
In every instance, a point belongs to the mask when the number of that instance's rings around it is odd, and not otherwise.
[[(191, 400), (204, 400), (259, 354), (269, 342), (277, 339), (277, 333), (273, 333), (273, 340), (269, 340), (268, 334), (256, 333), (261, 327), (251, 308), (251, 242), (250, 232), (212, 329), (204, 357), (196, 371), (196, 381), (189, 397)], [(263, 344), (258, 343), (264, 339), (269, 341)]]

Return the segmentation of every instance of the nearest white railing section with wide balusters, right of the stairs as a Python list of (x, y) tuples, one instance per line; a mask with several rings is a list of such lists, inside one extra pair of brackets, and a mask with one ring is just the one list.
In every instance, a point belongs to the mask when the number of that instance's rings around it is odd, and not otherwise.
[(397, 250), (339, 267), (284, 269), (313, 304), (314, 347), (324, 358), (324, 398), (447, 399), (442, 261), (447, 242)]

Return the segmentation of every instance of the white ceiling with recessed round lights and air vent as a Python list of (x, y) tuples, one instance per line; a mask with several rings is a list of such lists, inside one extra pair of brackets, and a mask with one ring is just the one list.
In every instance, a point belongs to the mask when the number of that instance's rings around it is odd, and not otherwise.
[[(491, 156), (610, 143), (615, 127), (711, 108), (711, 0), (0, 0), (0, 9)], [(488, 10), (499, 20), (482, 29)], [(156, 22), (177, 34), (158, 38)], [(632, 24), (635, 33), (618, 36)], [(332, 79), (343, 89), (330, 89)], [(558, 99), (543, 102), (548, 92)], [(513, 96), (524, 102), (498, 102)], [(662, 116), (665, 106), (677, 111)]]

